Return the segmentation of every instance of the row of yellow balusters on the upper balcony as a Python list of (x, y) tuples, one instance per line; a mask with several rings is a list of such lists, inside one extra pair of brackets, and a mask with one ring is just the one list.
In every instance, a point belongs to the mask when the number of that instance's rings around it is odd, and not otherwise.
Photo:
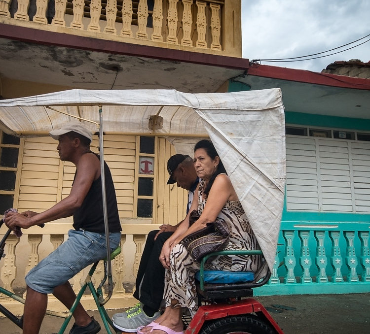
[[(227, 5), (224, 0), (153, 0), (150, 10), (148, 2), (2, 0), (0, 18), (31, 21), (44, 27), (66, 27), (72, 34), (80, 30), (130, 37), (137, 42), (165, 42), (214, 51), (225, 49), (221, 44), (225, 29), (222, 9)], [(42, 29), (42, 26), (35, 26), (35, 29)]]

